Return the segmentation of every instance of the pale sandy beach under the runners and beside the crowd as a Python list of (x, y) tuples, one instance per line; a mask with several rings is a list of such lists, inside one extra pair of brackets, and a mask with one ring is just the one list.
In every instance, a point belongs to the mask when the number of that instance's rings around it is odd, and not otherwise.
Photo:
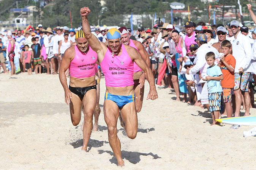
[(256, 137), (243, 137), (253, 126), (210, 126), (210, 112), (175, 102), (173, 89), (156, 86), (159, 98), (145, 100), (147, 82), (137, 137), (129, 139), (117, 123), (125, 161), (117, 167), (103, 117), (104, 78), (100, 87), (99, 130), (84, 153), (82, 121), (72, 125), (58, 75), (0, 74), (0, 170), (255, 169)]

